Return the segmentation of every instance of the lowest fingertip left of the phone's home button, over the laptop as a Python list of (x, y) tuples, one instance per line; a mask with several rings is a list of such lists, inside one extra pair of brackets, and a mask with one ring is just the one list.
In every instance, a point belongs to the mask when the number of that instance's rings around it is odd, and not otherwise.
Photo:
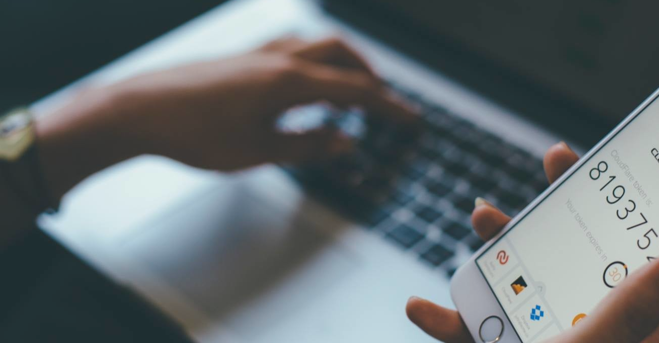
[(457, 311), (445, 309), (418, 297), (411, 297), (407, 301), (405, 311), (412, 323), (442, 342), (474, 342)]

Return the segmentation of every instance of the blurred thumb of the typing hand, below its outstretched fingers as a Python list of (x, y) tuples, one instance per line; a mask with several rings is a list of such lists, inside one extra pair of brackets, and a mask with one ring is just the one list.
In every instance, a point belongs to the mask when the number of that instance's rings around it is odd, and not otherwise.
[(277, 133), (268, 148), (275, 162), (324, 160), (349, 152), (353, 142), (334, 129), (323, 128), (304, 133)]

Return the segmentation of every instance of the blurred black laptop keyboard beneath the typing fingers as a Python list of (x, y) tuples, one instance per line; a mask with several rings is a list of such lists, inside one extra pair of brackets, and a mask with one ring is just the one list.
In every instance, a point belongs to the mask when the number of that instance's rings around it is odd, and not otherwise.
[(483, 243), (471, 230), (474, 199), (517, 214), (548, 187), (542, 161), (420, 96), (395, 88), (422, 109), (420, 132), (374, 115), (327, 113), (357, 137), (349, 156), (289, 168), (324, 203), (452, 276)]

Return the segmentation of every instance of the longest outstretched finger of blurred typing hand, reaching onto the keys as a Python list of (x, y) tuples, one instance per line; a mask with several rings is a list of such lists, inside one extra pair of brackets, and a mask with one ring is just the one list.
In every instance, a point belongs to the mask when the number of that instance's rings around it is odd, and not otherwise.
[(415, 110), (391, 96), (386, 88), (362, 71), (347, 71), (327, 65), (299, 62), (292, 72), (289, 89), (276, 101), (280, 108), (327, 101), (339, 108), (362, 106), (369, 114), (401, 123), (414, 123)]

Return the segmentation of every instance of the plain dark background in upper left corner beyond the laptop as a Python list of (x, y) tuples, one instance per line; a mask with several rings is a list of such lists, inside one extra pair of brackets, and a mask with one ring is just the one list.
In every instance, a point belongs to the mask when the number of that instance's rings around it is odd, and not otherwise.
[(0, 0), (0, 111), (38, 100), (225, 0)]

